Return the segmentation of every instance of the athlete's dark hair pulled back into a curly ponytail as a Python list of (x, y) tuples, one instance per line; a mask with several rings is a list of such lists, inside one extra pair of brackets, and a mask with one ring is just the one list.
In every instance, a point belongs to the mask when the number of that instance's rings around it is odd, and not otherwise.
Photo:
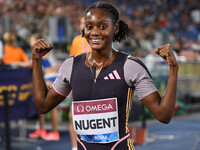
[[(85, 14), (87, 14), (92, 9), (96, 9), (96, 8), (103, 9), (109, 12), (111, 14), (113, 24), (115, 24), (119, 20), (118, 10), (112, 4), (108, 2), (99, 1), (99, 2), (95, 2), (89, 5), (85, 11)], [(85, 35), (84, 29), (82, 29), (81, 31), (82, 31), (82, 36), (84, 36)], [(118, 30), (118, 33), (114, 35), (113, 42), (119, 42), (119, 43), (122, 42), (130, 35), (131, 32), (132, 30), (128, 27), (128, 25), (124, 21), (119, 20), (119, 30)]]

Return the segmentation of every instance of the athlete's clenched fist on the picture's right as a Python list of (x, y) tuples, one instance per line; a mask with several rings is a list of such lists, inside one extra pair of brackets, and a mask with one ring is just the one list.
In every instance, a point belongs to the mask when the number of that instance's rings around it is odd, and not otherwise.
[(160, 46), (156, 49), (156, 53), (162, 57), (162, 59), (169, 65), (173, 67), (178, 67), (178, 62), (174, 56), (173, 50), (170, 44)]

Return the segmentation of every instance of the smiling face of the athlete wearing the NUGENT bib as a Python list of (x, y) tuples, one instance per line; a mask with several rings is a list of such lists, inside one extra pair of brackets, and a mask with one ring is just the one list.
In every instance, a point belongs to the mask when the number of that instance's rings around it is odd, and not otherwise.
[(86, 14), (85, 38), (93, 50), (111, 48), (115, 30), (117, 26), (107, 11), (95, 8)]

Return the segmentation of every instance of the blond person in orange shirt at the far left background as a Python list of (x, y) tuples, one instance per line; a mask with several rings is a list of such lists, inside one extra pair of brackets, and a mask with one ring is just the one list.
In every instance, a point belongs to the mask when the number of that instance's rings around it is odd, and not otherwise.
[(15, 46), (16, 36), (14, 33), (6, 32), (3, 35), (5, 41), (3, 62), (8, 65), (20, 64), (28, 62), (28, 56), (24, 50), (20, 47)]

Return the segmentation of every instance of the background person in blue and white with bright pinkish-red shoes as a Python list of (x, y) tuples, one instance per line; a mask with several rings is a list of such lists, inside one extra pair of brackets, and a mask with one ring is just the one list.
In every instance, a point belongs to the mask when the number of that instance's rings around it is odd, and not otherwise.
[[(30, 37), (30, 45), (33, 45), (38, 39), (43, 38), (41, 34), (35, 33)], [(44, 79), (48, 87), (52, 85), (56, 79), (56, 68), (53, 66), (51, 61), (50, 53), (46, 54), (42, 58), (42, 69), (44, 73)], [(45, 115), (39, 114), (40, 128), (35, 130), (33, 133), (29, 134), (30, 138), (42, 138), (48, 141), (58, 141), (60, 139), (60, 134), (58, 132), (58, 109), (57, 107), (52, 109), (50, 112), (51, 115), (51, 125), (52, 131), (49, 133), (45, 129)]]

